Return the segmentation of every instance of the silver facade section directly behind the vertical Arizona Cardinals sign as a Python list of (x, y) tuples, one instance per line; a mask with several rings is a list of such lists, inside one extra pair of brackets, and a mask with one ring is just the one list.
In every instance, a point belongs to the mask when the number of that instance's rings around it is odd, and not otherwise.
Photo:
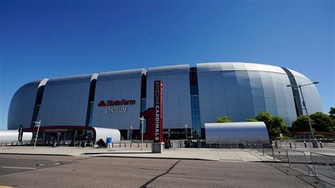
[(153, 107), (153, 81), (163, 81), (163, 129), (192, 125), (189, 65), (148, 69), (146, 106)]

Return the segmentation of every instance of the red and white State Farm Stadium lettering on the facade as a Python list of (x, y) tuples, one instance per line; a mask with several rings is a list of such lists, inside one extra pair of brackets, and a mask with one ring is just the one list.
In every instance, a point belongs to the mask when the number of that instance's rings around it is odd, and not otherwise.
[[(98, 104), (98, 107), (107, 107), (104, 112), (107, 113), (126, 113), (128, 112), (129, 105), (135, 105), (136, 100), (101, 100)], [(115, 107), (110, 107), (115, 106)], [(122, 107), (124, 106), (124, 107)]]

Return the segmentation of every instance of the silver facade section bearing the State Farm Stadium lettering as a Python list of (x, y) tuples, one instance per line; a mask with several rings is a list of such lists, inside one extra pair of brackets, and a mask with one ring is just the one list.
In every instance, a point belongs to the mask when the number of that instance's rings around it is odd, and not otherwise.
[[(114, 71), (101, 73), (95, 87), (93, 107), (93, 127), (114, 129), (139, 129), (139, 115), (141, 112), (141, 76), (146, 74), (145, 69)], [(135, 100), (134, 105), (113, 105), (99, 107), (100, 101), (107, 100)], [(105, 111), (108, 109), (127, 108), (124, 111)]]

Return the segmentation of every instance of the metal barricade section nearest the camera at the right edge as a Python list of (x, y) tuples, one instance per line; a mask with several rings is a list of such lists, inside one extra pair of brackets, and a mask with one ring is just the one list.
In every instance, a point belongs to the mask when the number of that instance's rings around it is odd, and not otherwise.
[(322, 175), (335, 180), (335, 156), (322, 153), (310, 153), (315, 175)]

